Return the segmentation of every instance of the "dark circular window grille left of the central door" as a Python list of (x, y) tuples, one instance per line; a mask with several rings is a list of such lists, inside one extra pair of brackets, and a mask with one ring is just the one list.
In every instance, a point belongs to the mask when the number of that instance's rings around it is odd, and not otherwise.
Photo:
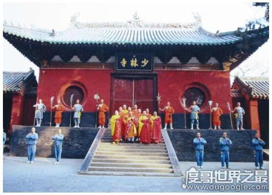
[(63, 93), (63, 102), (67, 105), (67, 106), (70, 106), (70, 98), (71, 98), (71, 95), (74, 94), (74, 97), (73, 97), (73, 104), (74, 105), (76, 103), (76, 100), (79, 99), (80, 102), (83, 101), (84, 99), (84, 92), (83, 90), (78, 87), (78, 86), (70, 86), (68, 87), (64, 93)]

